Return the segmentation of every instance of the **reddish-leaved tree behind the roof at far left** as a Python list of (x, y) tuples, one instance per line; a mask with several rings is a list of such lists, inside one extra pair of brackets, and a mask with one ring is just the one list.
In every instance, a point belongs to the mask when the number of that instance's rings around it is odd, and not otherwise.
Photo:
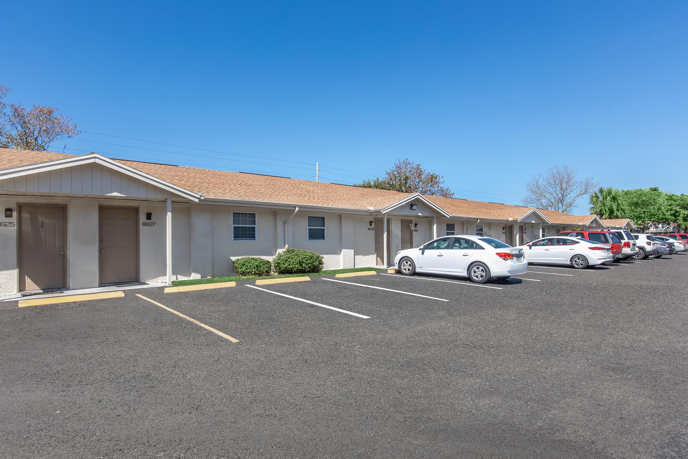
[(3, 101), (8, 92), (0, 86), (0, 147), (45, 151), (55, 140), (80, 134), (72, 118), (57, 114), (59, 109), (8, 104)]

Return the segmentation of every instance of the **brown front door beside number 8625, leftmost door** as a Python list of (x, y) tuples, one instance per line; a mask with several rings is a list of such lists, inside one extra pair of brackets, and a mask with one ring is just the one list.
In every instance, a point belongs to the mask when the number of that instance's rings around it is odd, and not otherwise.
[(65, 286), (65, 208), (21, 206), (19, 291)]

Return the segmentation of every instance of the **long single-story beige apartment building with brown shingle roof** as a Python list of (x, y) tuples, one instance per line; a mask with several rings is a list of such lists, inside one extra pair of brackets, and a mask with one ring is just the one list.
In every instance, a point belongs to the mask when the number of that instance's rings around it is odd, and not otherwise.
[(0, 295), (233, 274), (288, 247), (388, 266), (442, 235), (519, 245), (595, 215), (251, 173), (0, 148)]

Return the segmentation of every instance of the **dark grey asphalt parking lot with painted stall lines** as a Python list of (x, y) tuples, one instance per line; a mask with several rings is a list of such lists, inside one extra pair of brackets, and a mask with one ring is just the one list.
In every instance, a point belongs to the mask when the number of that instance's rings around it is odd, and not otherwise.
[(685, 458), (687, 274), (677, 254), (0, 303), (0, 455)]

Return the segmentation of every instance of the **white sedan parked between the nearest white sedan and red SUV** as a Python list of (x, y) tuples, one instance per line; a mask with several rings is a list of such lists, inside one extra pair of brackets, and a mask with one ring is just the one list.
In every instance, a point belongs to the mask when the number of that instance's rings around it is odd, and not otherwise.
[(519, 248), (524, 249), (528, 263), (565, 264), (583, 269), (614, 261), (610, 244), (583, 237), (543, 237)]

